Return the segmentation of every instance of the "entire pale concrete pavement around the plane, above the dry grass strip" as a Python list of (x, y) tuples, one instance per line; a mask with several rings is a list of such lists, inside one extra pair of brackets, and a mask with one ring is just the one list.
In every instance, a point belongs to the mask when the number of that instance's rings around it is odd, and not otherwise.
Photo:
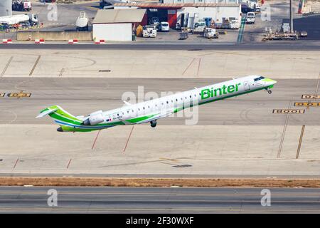
[[(319, 177), (319, 106), (294, 105), (319, 100), (302, 99), (319, 94), (319, 52), (293, 50), (0, 50), (0, 173)], [(50, 118), (35, 118), (50, 105), (87, 115), (119, 108), (128, 97), (135, 103), (151, 92), (155, 97), (252, 74), (278, 81), (272, 95), (263, 90), (201, 105), (199, 115), (173, 115), (156, 128), (121, 126), (97, 138), (97, 132), (58, 133)], [(31, 97), (8, 97), (21, 91)]]

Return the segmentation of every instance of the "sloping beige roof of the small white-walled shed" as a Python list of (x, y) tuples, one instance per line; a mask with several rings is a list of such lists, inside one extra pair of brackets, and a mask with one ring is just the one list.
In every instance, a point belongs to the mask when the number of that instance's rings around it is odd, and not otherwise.
[(145, 9), (100, 9), (92, 24), (141, 22), (145, 13)]

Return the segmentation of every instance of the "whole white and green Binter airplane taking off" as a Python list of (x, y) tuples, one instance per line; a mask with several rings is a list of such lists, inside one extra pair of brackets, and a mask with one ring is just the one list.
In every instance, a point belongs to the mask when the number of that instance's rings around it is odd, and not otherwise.
[(105, 112), (98, 110), (87, 116), (71, 115), (60, 106), (53, 105), (41, 110), (36, 118), (49, 115), (55, 123), (60, 125), (60, 128), (57, 129), (58, 132), (90, 132), (117, 125), (141, 123), (150, 123), (151, 127), (155, 128), (156, 120), (166, 118), (194, 105), (203, 105), (257, 90), (267, 90), (271, 94), (270, 89), (273, 88), (275, 83), (277, 81), (263, 76), (246, 76), (137, 104), (131, 104), (124, 100), (126, 105), (122, 108)]

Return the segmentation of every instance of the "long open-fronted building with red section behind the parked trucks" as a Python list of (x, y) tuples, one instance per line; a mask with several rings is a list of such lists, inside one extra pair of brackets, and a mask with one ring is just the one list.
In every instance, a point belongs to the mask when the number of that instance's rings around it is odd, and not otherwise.
[(222, 23), (226, 19), (241, 19), (241, 5), (238, 3), (117, 3), (114, 9), (146, 9), (142, 26), (149, 24), (154, 17), (159, 18), (159, 21), (168, 21), (170, 28), (175, 28), (177, 23), (181, 27), (193, 28), (199, 20), (206, 21), (207, 26), (210, 26), (211, 21)]

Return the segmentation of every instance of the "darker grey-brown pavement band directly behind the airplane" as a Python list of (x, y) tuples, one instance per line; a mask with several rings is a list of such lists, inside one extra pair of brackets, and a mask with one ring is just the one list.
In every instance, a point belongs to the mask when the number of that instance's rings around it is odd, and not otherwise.
[[(277, 79), (278, 83), (269, 95), (265, 90), (240, 95), (199, 107), (198, 125), (283, 125), (287, 115), (274, 114), (273, 109), (306, 107), (294, 106), (303, 94), (314, 94), (316, 79)], [(60, 105), (73, 115), (87, 115), (95, 110), (111, 110), (124, 103), (124, 92), (132, 92), (138, 98), (138, 86), (144, 86), (144, 94), (189, 90), (226, 79), (198, 78), (0, 78), (2, 93), (31, 93), (31, 98), (9, 98), (0, 103), (0, 123), (48, 124), (50, 118), (35, 119), (43, 108)], [(161, 85), (161, 86), (159, 86)], [(18, 88), (18, 90), (17, 90)], [(143, 94), (143, 93), (142, 93)], [(150, 94), (150, 93), (149, 93)], [(123, 98), (127, 100), (127, 97)], [(139, 101), (142, 101), (141, 98)], [(146, 98), (147, 99), (147, 98)], [(129, 100), (135, 103), (136, 100)], [(184, 117), (164, 118), (161, 125), (183, 125)], [(304, 114), (291, 115), (287, 125), (319, 125), (319, 108), (312, 107)]]

